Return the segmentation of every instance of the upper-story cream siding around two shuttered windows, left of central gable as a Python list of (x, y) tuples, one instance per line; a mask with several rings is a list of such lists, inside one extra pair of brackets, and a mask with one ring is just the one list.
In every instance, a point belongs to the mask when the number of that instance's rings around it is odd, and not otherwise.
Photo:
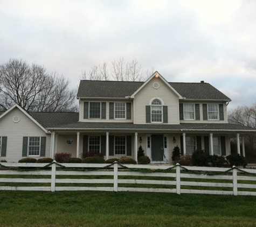
[[(106, 102), (106, 119), (84, 119), (84, 102)], [(131, 103), (131, 119), (109, 119), (110, 102), (129, 102)], [(80, 122), (133, 122), (133, 100), (81, 100), (80, 102)]]

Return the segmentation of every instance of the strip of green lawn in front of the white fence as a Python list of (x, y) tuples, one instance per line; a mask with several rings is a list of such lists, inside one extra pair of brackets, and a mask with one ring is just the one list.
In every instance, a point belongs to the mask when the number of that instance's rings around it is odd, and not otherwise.
[(0, 191), (0, 226), (256, 226), (256, 196)]

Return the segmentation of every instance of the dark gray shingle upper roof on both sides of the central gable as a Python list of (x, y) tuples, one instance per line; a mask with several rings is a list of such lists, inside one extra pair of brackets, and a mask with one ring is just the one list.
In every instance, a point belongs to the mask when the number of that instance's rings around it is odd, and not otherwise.
[[(124, 98), (131, 96), (144, 82), (80, 81), (77, 97)], [(169, 83), (181, 96), (196, 100), (230, 100), (209, 83)]]

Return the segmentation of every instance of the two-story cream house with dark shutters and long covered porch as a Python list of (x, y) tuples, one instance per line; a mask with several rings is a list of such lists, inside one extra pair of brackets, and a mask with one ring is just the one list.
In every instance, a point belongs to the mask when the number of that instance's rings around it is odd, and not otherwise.
[[(18, 105), (0, 116), (1, 158), (51, 157), (96, 151), (105, 159), (132, 157), (141, 145), (153, 163), (205, 150), (229, 155), (230, 138), (256, 130), (227, 123), (229, 97), (209, 83), (167, 82), (155, 72), (145, 82), (80, 82), (79, 113), (26, 112)], [(244, 145), (238, 152), (245, 154)]]

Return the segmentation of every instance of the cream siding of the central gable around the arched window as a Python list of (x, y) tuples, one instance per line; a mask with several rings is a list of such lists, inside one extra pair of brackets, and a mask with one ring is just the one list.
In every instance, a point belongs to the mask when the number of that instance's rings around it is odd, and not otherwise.
[[(160, 87), (153, 88), (158, 82)], [(178, 96), (160, 78), (153, 78), (134, 97), (134, 124), (146, 124), (146, 106), (154, 98), (160, 98), (168, 106), (168, 124), (179, 124)]]

